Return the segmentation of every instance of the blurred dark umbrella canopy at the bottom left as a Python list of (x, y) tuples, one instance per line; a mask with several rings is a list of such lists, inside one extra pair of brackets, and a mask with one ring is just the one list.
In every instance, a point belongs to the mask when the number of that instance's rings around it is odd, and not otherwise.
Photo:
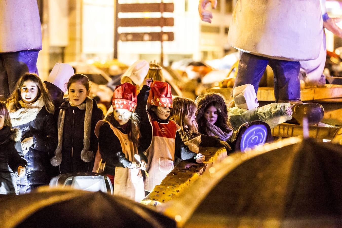
[(101, 191), (42, 188), (0, 201), (7, 227), (175, 227), (175, 221), (126, 198)]

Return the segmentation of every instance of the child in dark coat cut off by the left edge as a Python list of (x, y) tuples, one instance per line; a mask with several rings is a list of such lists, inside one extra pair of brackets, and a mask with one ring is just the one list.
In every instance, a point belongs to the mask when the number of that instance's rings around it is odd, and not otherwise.
[(15, 147), (18, 143), (20, 149), (21, 132), (11, 128), (10, 114), (0, 102), (0, 194), (15, 194), (16, 176), (23, 177), (26, 173), (27, 162)]

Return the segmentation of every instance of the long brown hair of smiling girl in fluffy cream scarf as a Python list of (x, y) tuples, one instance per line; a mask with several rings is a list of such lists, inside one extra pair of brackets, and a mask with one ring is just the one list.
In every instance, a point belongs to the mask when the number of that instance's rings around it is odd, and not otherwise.
[(25, 81), (32, 81), (36, 84), (36, 86), (38, 88), (37, 97), (38, 98), (42, 97), (42, 99), (44, 101), (45, 110), (49, 113), (54, 113), (55, 106), (52, 103), (51, 96), (50, 96), (48, 90), (46, 89), (45, 85), (43, 84), (43, 82), (40, 80), (38, 75), (36, 75), (35, 73), (25, 73), (23, 76), (21, 76), (19, 78), (19, 80), (15, 86), (16, 89), (13, 91), (11, 97), (8, 98), (7, 102), (14, 102), (14, 108), (16, 110), (22, 108), (22, 106), (19, 103), (19, 100), (23, 99), (21, 96), (20, 88), (23, 86)]

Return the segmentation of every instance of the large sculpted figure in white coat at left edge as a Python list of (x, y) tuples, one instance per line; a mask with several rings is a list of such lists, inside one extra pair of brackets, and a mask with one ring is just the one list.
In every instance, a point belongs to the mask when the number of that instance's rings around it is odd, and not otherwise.
[(0, 9), (0, 99), (5, 100), (20, 76), (38, 73), (42, 37), (36, 0), (1, 0)]

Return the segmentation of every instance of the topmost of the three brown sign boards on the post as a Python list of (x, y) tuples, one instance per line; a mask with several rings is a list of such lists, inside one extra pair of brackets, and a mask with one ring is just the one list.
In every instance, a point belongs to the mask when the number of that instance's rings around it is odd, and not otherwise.
[(143, 12), (173, 12), (173, 3), (132, 3), (119, 4), (121, 13), (143, 13)]

